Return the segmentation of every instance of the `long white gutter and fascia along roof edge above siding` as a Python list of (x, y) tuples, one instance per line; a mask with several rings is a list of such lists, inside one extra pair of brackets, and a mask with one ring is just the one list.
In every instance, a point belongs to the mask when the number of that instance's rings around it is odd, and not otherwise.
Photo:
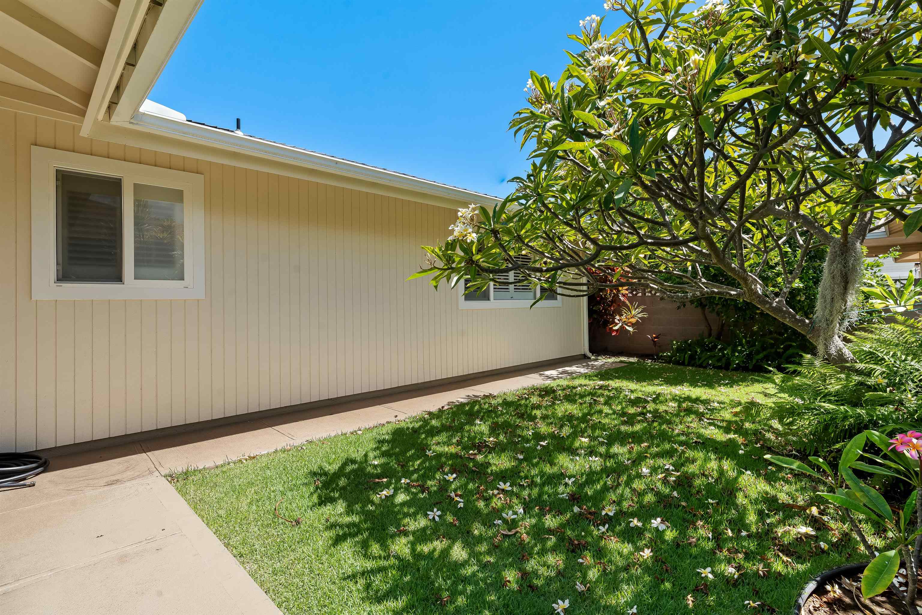
[[(104, 124), (99, 123), (97, 125), (101, 127)], [(112, 125), (130, 127), (134, 130), (158, 136), (169, 136), (173, 139), (242, 153), (263, 160), (275, 160), (289, 165), (293, 164), (313, 171), (357, 179), (361, 182), (392, 186), (412, 193), (447, 199), (447, 203), (433, 202), (433, 204), (443, 207), (457, 207), (459, 201), (478, 205), (495, 205), (502, 200), (496, 196), (482, 195), (464, 188), (455, 188), (454, 186), (411, 177), (396, 171), (387, 171), (359, 162), (337, 159), (325, 154), (266, 141), (254, 136), (240, 135), (211, 126), (183, 122), (175, 117), (157, 112), (142, 110), (136, 112), (130, 121), (112, 122)], [(106, 136), (100, 135), (100, 138), (105, 139)], [(211, 160), (207, 157), (203, 158)], [(285, 171), (274, 172), (286, 174)], [(426, 202), (432, 201), (427, 200)]]

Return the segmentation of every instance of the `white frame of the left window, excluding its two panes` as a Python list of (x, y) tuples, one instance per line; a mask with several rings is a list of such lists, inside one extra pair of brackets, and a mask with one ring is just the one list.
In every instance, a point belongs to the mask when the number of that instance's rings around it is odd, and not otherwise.
[[(122, 283), (57, 281), (56, 171), (122, 180)], [(183, 191), (182, 280), (135, 279), (135, 183)], [(32, 299), (204, 299), (205, 176), (32, 146)]]

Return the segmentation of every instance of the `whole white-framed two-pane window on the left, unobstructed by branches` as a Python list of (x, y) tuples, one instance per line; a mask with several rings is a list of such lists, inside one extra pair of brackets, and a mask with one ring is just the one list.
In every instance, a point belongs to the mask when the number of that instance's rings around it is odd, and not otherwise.
[(203, 180), (33, 147), (32, 298), (203, 298)]

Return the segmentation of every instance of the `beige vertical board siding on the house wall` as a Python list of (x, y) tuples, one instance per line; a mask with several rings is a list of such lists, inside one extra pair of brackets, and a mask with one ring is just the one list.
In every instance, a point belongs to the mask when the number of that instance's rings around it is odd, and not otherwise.
[[(30, 146), (205, 176), (206, 298), (32, 301)], [(580, 302), (459, 310), (405, 281), (455, 211), (109, 144), (0, 110), (0, 451), (578, 354)], [(538, 331), (540, 334), (538, 335)]]

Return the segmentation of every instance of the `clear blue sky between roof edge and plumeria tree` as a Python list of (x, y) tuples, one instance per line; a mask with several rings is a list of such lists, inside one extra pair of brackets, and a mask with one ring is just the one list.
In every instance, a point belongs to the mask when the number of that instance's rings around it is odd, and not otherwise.
[(240, 117), (250, 135), (500, 196), (527, 167), (506, 126), (528, 71), (559, 76), (566, 34), (603, 13), (602, 0), (269, 4), (206, 0), (149, 98), (197, 122)]

